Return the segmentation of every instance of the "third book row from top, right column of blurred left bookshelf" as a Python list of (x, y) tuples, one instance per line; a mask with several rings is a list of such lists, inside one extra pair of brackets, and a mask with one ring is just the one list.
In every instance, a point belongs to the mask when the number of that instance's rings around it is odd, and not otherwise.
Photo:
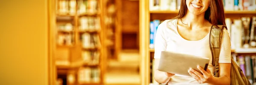
[(101, 47), (99, 34), (83, 33), (81, 35), (83, 48), (99, 48)]

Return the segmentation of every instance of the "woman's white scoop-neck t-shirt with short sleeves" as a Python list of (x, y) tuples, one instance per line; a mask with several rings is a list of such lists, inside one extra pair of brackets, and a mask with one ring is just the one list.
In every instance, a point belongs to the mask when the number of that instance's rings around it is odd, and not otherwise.
[[(224, 28), (219, 63), (231, 63), (230, 37)], [(177, 53), (191, 54), (209, 58), (208, 68), (214, 73), (212, 55), (209, 48), (209, 33), (206, 37), (197, 41), (185, 40), (177, 31), (177, 19), (165, 20), (157, 28), (155, 37), (154, 58), (160, 59), (161, 51), (174, 51)], [(178, 64), (178, 63), (177, 63)], [(169, 85), (208, 85), (199, 84), (194, 78), (175, 74), (168, 82)]]

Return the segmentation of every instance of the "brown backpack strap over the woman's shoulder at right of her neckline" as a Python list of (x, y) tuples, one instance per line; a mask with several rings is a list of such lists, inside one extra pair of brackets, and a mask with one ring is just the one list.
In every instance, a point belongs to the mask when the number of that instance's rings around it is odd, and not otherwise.
[(209, 46), (212, 53), (212, 65), (215, 67), (215, 73), (214, 77), (219, 77), (219, 55), (221, 50), (221, 40), (222, 40), (222, 34), (223, 29), (227, 27), (224, 25), (213, 25), (210, 30), (210, 36), (209, 36)]

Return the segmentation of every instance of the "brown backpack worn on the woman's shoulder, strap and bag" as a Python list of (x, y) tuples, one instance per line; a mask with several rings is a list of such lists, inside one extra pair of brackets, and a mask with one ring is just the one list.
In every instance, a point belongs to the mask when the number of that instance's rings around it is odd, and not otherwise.
[[(212, 65), (215, 66), (215, 73), (213, 76), (219, 77), (219, 66), (218, 60), (221, 49), (221, 40), (223, 29), (227, 27), (224, 25), (212, 26), (209, 36), (209, 46), (212, 52)], [(241, 68), (231, 58), (231, 69), (230, 69), (230, 85), (251, 85), (249, 80), (244, 76)]]

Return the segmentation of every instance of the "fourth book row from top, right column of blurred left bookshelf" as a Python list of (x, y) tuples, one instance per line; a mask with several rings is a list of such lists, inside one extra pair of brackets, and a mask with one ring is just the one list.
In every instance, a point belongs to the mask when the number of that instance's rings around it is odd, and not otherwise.
[(99, 64), (99, 51), (82, 51), (81, 56), (85, 64), (98, 65)]

